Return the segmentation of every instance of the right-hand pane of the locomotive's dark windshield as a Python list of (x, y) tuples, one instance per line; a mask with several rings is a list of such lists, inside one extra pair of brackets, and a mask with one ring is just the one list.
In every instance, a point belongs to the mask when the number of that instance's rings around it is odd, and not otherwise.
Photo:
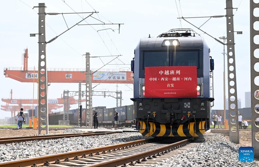
[(199, 51), (176, 51), (173, 53), (173, 66), (196, 66), (199, 68)]

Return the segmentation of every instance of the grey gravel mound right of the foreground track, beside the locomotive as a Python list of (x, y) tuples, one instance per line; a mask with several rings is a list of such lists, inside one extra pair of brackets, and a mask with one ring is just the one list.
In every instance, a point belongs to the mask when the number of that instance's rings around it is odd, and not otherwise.
[(258, 167), (256, 162), (239, 162), (239, 146), (220, 134), (205, 133), (205, 141), (182, 154), (166, 160), (155, 167), (193, 167), (193, 166), (244, 166)]

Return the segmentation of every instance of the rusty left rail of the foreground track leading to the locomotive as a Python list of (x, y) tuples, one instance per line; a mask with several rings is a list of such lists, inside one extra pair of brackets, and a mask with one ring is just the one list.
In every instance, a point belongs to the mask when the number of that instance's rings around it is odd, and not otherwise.
[(60, 161), (62, 161), (62, 160), (65, 160), (67, 157), (69, 157), (70, 160), (73, 160), (74, 157), (77, 157), (77, 156), (89, 155), (91, 153), (102, 152), (102, 151), (108, 151), (108, 150), (114, 149), (115, 147), (121, 148), (121, 147), (126, 147), (129, 145), (136, 145), (139, 143), (150, 142), (152, 139), (153, 138), (142, 139), (142, 140), (131, 141), (131, 142), (122, 143), (122, 144), (118, 144), (118, 145), (109, 145), (109, 146), (98, 147), (98, 148), (93, 148), (93, 149), (85, 149), (85, 150), (79, 150), (79, 151), (73, 151), (73, 152), (67, 152), (67, 153), (46, 155), (46, 156), (35, 157), (35, 158), (26, 158), (23, 160), (1, 162), (0, 166), (3, 166), (3, 167), (32, 166), (33, 164), (37, 164), (37, 166), (43, 166), (46, 161), (48, 161), (50, 163), (55, 162), (58, 159)]

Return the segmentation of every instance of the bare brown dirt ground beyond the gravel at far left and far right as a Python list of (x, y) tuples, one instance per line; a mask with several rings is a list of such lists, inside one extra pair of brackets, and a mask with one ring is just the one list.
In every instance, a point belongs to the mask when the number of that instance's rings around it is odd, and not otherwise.
[[(65, 130), (49, 130), (49, 134), (63, 134)], [(42, 131), (43, 132), (43, 131)], [(15, 137), (24, 135), (36, 135), (38, 130), (34, 129), (19, 129), (19, 130), (2, 130), (0, 129), (0, 137)], [(259, 134), (257, 134), (259, 136)], [(256, 138), (259, 138), (256, 136)], [(239, 131), (239, 145), (240, 147), (252, 147), (252, 134), (251, 130), (240, 130)], [(229, 136), (225, 136), (229, 140)], [(259, 166), (259, 158), (255, 159)]]

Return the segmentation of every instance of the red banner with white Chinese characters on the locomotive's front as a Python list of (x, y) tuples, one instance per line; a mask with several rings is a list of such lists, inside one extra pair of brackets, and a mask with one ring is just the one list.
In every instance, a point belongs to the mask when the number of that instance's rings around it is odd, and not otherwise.
[(197, 97), (197, 67), (145, 67), (145, 97)]

